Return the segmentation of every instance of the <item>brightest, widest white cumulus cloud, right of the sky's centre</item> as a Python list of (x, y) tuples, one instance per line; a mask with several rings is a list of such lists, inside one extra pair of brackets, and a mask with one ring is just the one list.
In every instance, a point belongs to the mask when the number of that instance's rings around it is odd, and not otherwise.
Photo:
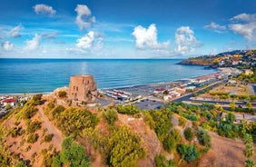
[(169, 41), (162, 44), (158, 43), (157, 29), (154, 24), (150, 25), (148, 29), (142, 25), (136, 26), (133, 30), (133, 37), (138, 49), (166, 49), (170, 44)]

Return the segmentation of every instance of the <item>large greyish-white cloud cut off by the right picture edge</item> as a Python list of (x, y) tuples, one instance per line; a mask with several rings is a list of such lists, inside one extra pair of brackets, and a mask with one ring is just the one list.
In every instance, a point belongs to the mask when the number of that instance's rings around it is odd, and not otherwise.
[(247, 40), (254, 40), (256, 37), (256, 14), (240, 14), (233, 16), (231, 21), (236, 22), (229, 25), (231, 31), (236, 34), (241, 34)]

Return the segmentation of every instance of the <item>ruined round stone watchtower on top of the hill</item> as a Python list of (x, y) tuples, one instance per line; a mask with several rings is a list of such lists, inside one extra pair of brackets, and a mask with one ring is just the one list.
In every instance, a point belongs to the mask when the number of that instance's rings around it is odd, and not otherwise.
[(80, 102), (92, 102), (99, 96), (92, 75), (80, 74), (71, 76), (68, 99)]

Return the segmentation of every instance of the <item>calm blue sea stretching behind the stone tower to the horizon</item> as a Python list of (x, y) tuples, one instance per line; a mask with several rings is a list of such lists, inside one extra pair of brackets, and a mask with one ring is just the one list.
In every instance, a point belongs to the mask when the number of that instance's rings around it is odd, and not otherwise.
[(93, 74), (98, 88), (174, 81), (216, 70), (179, 65), (178, 59), (0, 59), (0, 93), (48, 93), (75, 74)]

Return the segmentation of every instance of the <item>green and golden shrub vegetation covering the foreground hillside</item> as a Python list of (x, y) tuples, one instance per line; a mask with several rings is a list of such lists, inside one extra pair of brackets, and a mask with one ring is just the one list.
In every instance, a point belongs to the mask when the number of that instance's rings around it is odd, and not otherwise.
[[(40, 119), (43, 106), (51, 123), (65, 137), (59, 150), (53, 144), (56, 142), (54, 134), (45, 128), (44, 121)], [(250, 138), (249, 141), (255, 142), (256, 123), (235, 124), (233, 113), (227, 113), (222, 118), (221, 112), (223, 109), (207, 103), (200, 106), (169, 103), (150, 111), (142, 111), (133, 105), (90, 110), (57, 105), (55, 101), (43, 105), (41, 96), (36, 95), (3, 120), (0, 126), (0, 163), (2, 166), (25, 166), (41, 160), (43, 166), (90, 166), (100, 156), (102, 165), (136, 166), (140, 162), (138, 160), (143, 161), (143, 158), (148, 158), (149, 152), (153, 152), (145, 147), (145, 142), (154, 143), (144, 138), (151, 131), (161, 145), (161, 151), (151, 159), (153, 165), (195, 166), (212, 149), (210, 131), (229, 138), (244, 138), (244, 141)], [(146, 127), (144, 133), (134, 130), (141, 128), (136, 127), (136, 122)], [(10, 124), (12, 127), (7, 128)], [(6, 142), (6, 139), (17, 143)], [(41, 144), (47, 147), (33, 150), (35, 145)], [(246, 144), (245, 163), (250, 166), (253, 164), (251, 142)], [(20, 158), (18, 153), (21, 151), (31, 152), (30, 162), (27, 158)]]

